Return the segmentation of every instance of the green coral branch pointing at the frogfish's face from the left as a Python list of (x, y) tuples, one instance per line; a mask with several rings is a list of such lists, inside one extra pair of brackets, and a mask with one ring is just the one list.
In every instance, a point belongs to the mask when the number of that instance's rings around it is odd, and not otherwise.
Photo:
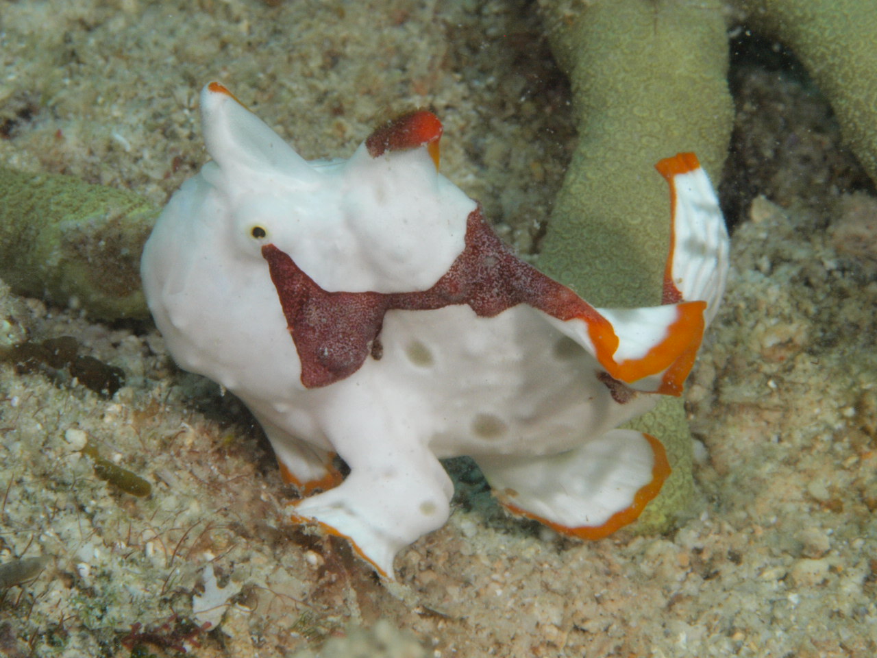
[(140, 252), (159, 212), (128, 190), (0, 168), (0, 278), (92, 318), (147, 318)]

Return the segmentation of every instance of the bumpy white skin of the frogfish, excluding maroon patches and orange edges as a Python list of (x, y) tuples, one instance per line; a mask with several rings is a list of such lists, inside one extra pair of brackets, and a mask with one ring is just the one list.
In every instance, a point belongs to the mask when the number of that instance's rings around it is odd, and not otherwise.
[[(144, 290), (175, 360), (239, 396), (299, 482), (327, 476), (333, 452), (349, 465), (339, 486), (299, 501), (296, 517), (348, 537), (392, 577), (395, 554), (450, 513), (439, 458), (473, 456), (495, 488), (514, 490), (511, 503), (558, 526), (600, 526), (631, 505), (655, 458), (641, 434), (613, 428), (655, 396), (613, 399), (581, 320), (523, 304), (495, 318), (467, 305), (389, 311), (380, 360), (306, 389), (261, 247), (289, 254), (324, 290), (427, 290), (462, 252), (474, 201), (425, 148), (372, 158), (360, 146), (348, 161), (309, 163), (225, 89), (206, 87), (201, 107), (214, 161), (162, 213), (142, 258)], [(674, 279), (686, 298), (715, 303), (724, 224), (706, 176), (687, 176), (675, 221), (690, 240), (677, 244)], [(673, 305), (604, 315), (618, 354), (660, 343), (675, 318)], [(631, 384), (654, 390), (657, 379)]]

